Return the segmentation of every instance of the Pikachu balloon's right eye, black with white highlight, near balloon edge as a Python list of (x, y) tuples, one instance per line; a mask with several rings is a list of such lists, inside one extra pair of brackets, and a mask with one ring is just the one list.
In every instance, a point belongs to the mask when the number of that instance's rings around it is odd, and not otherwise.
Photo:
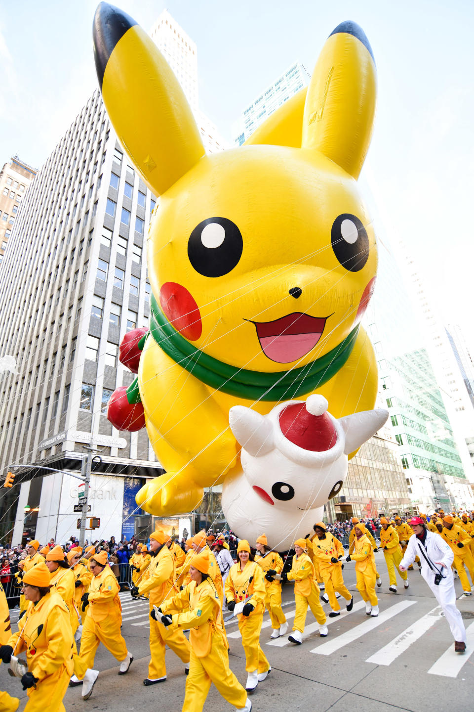
[(362, 222), (355, 215), (343, 213), (331, 228), (333, 251), (342, 266), (358, 272), (369, 258), (369, 238)]

